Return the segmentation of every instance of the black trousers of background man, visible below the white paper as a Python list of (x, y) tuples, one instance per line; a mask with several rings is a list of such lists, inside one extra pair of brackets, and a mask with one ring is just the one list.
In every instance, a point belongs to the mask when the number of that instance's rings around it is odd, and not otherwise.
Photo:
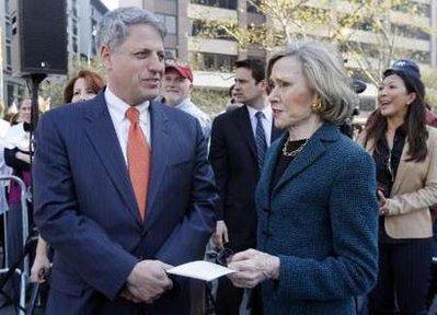
[[(221, 277), (217, 287), (216, 315), (239, 315), (243, 294), (244, 289), (233, 287), (231, 280), (227, 277)], [(250, 303), (252, 315), (263, 314), (260, 287), (252, 289)]]

